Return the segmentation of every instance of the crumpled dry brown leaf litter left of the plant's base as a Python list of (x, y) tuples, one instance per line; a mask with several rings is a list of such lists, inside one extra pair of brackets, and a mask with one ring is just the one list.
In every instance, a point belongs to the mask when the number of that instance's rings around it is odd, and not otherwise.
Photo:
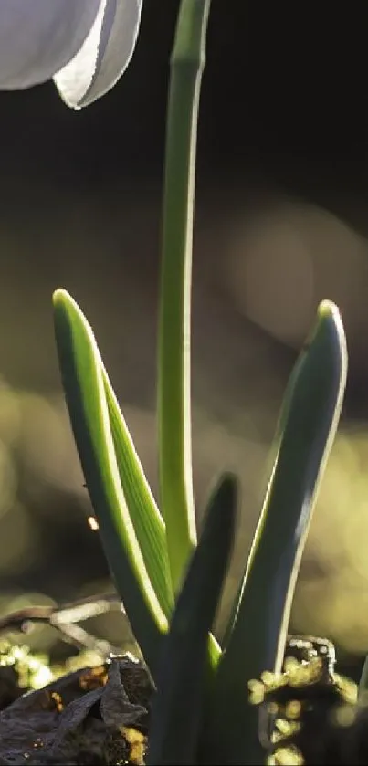
[(0, 764), (139, 766), (151, 693), (146, 669), (130, 655), (28, 691), (0, 712)]

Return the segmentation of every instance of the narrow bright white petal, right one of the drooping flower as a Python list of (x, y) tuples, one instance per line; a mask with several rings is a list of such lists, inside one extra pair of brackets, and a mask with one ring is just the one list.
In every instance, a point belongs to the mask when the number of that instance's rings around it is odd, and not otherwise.
[(100, 1), (89, 36), (54, 78), (68, 106), (87, 106), (115, 85), (131, 60), (141, 9), (142, 0)]

